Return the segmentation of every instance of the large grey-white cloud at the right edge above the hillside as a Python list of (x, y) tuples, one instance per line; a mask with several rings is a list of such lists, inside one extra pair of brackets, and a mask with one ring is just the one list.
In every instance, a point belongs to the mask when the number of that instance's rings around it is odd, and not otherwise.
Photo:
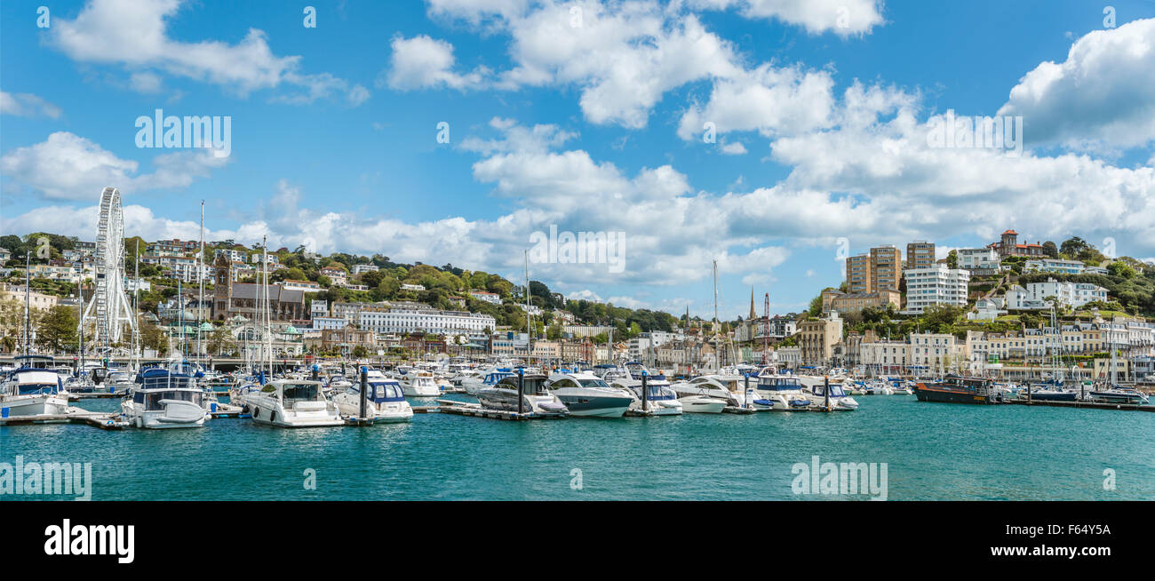
[(1155, 18), (1095, 30), (1060, 64), (1027, 73), (999, 114), (1022, 116), (1028, 144), (1087, 150), (1155, 140)]

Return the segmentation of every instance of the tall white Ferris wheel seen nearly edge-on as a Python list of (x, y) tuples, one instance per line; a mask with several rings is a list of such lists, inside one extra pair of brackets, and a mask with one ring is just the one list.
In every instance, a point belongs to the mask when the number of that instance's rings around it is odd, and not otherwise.
[(128, 297), (125, 293), (125, 217), (120, 191), (106, 187), (100, 193), (100, 219), (96, 230), (96, 293), (84, 308), (80, 325), (95, 322), (92, 343), (113, 344), (124, 338), (125, 326), (136, 333)]

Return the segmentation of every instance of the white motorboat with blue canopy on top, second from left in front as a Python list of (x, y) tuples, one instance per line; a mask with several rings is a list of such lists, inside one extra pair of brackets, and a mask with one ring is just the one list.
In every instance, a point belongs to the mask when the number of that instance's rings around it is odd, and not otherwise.
[(164, 367), (137, 374), (120, 412), (128, 425), (152, 430), (202, 427), (213, 417), (204, 409), (204, 390), (195, 378)]

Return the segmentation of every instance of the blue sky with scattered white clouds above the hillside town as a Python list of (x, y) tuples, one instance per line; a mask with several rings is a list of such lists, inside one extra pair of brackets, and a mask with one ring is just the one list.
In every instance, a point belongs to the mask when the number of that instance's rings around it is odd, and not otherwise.
[[(620, 231), (623, 271), (531, 276), (703, 315), (711, 260), (737, 315), (877, 244), (1155, 256), (1155, 2), (311, 3), (0, 5), (0, 230), (91, 239), (113, 185), (129, 234), (195, 238), (204, 200), (213, 239), (515, 281), (535, 231)], [(230, 155), (137, 148), (157, 109), (231, 117)], [(930, 148), (947, 110), (1021, 116), (1026, 149)]]

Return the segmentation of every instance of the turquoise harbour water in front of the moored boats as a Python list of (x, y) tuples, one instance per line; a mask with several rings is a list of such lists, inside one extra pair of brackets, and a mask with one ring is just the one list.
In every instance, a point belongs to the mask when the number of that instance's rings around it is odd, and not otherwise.
[[(815, 454), (887, 463), (891, 500), (1155, 499), (1155, 414), (856, 398), (858, 411), (837, 414), (534, 422), (418, 414), (409, 424), (313, 430), (247, 419), (172, 431), (10, 426), (0, 427), (0, 462), (91, 462), (94, 500), (866, 498), (795, 494), (791, 465)], [(306, 469), (315, 470), (315, 490), (304, 487)], [(1104, 490), (1104, 469), (1115, 470), (1116, 490)]]

